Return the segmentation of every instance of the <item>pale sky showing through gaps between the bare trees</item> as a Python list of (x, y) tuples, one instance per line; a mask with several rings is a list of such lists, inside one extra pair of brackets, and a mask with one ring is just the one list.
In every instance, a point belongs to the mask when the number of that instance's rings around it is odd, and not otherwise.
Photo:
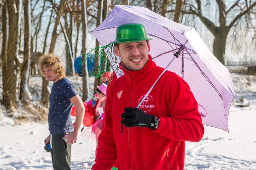
[[(36, 13), (41, 12), (41, 8), (39, 6), (42, 6), (42, 3), (43, 3), (43, 1), (39, 1), (38, 2), (38, 8), (36, 8), (37, 10), (35, 10), (34, 15), (36, 15)], [(230, 5), (233, 4), (233, 3), (234, 3), (233, 1), (226, 1), (227, 8), (230, 7)], [(33, 3), (32, 3), (32, 6), (33, 6)], [(209, 6), (207, 6), (207, 7), (203, 8), (203, 9), (205, 11), (209, 11)], [(216, 24), (218, 25), (218, 19), (217, 19), (218, 18), (218, 12), (217, 12), (217, 8), (218, 8), (217, 5), (212, 5), (210, 11), (213, 11), (213, 14), (212, 15), (208, 15), (205, 12), (205, 15), (207, 17), (209, 17), (209, 19), (212, 20), (213, 22), (216, 22)], [(46, 28), (47, 28), (47, 24), (48, 24), (48, 21), (49, 21), (49, 16), (50, 16), (50, 10), (48, 10), (47, 13), (44, 13), (44, 17), (42, 18), (42, 20), (43, 20), (42, 23), (43, 24), (42, 24), (41, 27), (42, 27), (42, 29), (44, 31), (40, 32), (40, 36), (39, 36), (40, 38), (38, 39), (37, 51), (42, 51), (41, 48), (42, 48), (42, 44), (44, 42), (44, 34), (45, 34), (45, 31), (46, 31)], [(189, 20), (190, 19), (188, 19), (188, 21)], [(64, 20), (63, 19), (61, 20), (61, 22), (64, 25)], [(51, 24), (51, 29), (53, 28), (53, 26), (54, 26), (54, 23)], [(90, 26), (90, 28), (89, 28), (89, 31), (87, 33), (87, 41), (86, 41), (87, 49), (94, 48), (95, 44), (96, 44), (95, 37), (90, 33), (90, 31), (92, 31), (95, 28), (95, 26), (92, 26), (92, 25), (89, 25), (89, 26)], [(201, 23), (201, 21), (198, 18), (196, 18), (194, 20), (189, 21), (189, 23), (187, 23), (187, 26), (190, 26), (190, 27), (194, 27), (195, 26), (198, 34), (200, 35), (200, 37), (203, 39), (203, 41), (205, 42), (207, 47), (210, 49), (210, 51), (212, 51), (214, 36)], [(75, 26), (75, 28), (76, 28), (76, 26)], [(59, 26), (58, 29), (59, 30), (61, 29), (60, 26)], [(233, 30), (231, 30), (230, 33), (232, 31)], [(247, 39), (246, 42), (251, 42), (251, 37), (253, 37), (253, 34), (254, 34), (253, 32), (245, 33), (243, 31), (243, 28), (241, 28), (241, 31), (239, 31), (239, 32), (242, 32), (243, 35), (244, 34), (246, 34), (246, 35), (248, 34), (249, 36), (246, 38)], [(47, 38), (47, 46), (50, 46), (51, 34), (52, 34), (52, 31), (50, 30), (49, 34), (48, 34), (48, 38)], [(77, 53), (76, 57), (78, 57), (81, 54), (81, 36), (82, 36), (82, 33), (80, 31), (80, 40), (79, 40), (79, 43), (78, 43), (78, 53)], [(75, 46), (75, 39), (76, 39), (76, 34), (74, 34), (73, 38), (72, 38), (74, 46)], [(236, 37), (236, 39), (239, 39), (239, 37)], [(242, 39), (238, 40), (238, 42), (241, 44), (241, 42), (244, 42), (244, 40), (245, 40), (245, 38), (242, 37)], [(244, 60), (249, 60), (249, 61), (254, 60), (254, 61), (256, 61), (255, 55), (252, 55), (252, 54), (255, 54), (255, 49), (253, 48), (253, 46), (250, 45), (250, 43), (245, 43), (244, 45), (242, 45), (242, 46), (240, 46), (238, 48), (238, 47), (234, 46), (234, 44), (232, 43), (233, 41), (234, 41), (234, 39), (231, 39), (231, 38), (227, 39), (227, 46), (226, 46), (227, 61), (244, 61)], [(49, 49), (46, 49), (46, 52), (48, 50)], [(54, 53), (59, 55), (62, 58), (62, 62), (63, 63), (66, 63), (65, 39), (64, 39), (62, 33), (57, 38), (57, 42), (56, 42)]]

